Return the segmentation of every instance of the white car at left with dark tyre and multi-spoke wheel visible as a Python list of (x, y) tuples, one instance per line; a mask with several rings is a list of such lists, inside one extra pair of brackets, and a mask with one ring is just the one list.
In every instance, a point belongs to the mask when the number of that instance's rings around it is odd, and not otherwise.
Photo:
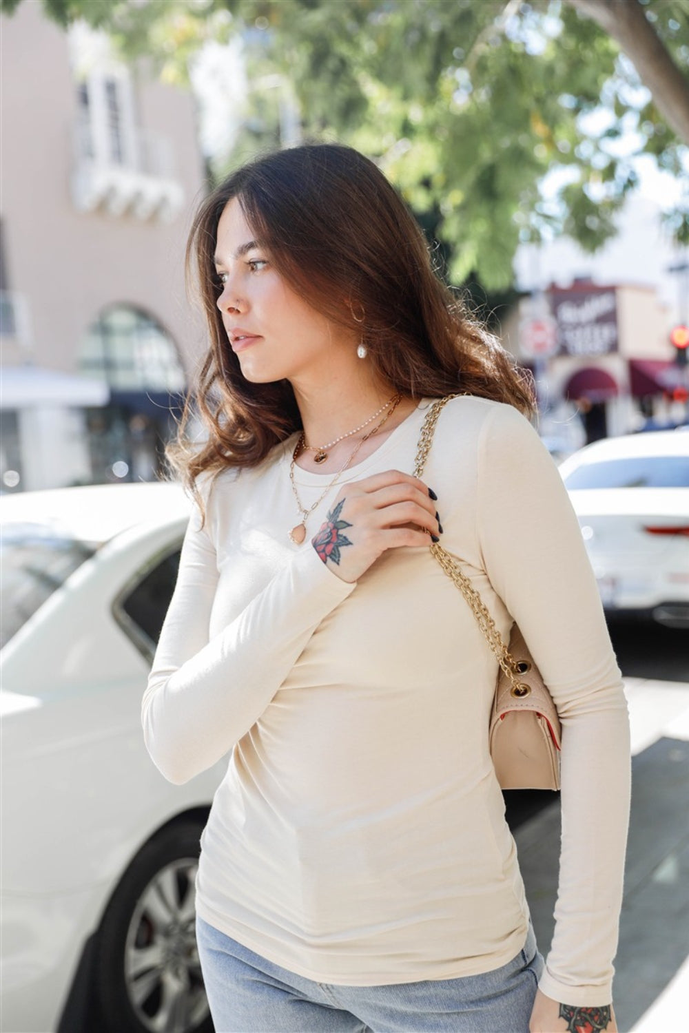
[(3, 1030), (212, 1030), (194, 875), (222, 764), (169, 785), (139, 719), (188, 516), (173, 484), (0, 500)]

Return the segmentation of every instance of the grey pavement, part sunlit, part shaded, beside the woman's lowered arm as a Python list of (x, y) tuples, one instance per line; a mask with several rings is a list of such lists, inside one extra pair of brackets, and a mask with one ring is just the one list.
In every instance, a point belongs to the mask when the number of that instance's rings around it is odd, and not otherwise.
[[(689, 684), (626, 678), (632, 808), (616, 960), (620, 1033), (689, 1033)], [(545, 953), (560, 847), (556, 801), (514, 835)]]

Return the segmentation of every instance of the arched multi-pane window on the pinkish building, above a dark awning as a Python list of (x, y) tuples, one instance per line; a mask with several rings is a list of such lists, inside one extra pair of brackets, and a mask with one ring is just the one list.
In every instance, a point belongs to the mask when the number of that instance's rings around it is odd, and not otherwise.
[(114, 392), (177, 393), (186, 384), (169, 335), (153, 316), (127, 305), (105, 309), (91, 324), (79, 368)]

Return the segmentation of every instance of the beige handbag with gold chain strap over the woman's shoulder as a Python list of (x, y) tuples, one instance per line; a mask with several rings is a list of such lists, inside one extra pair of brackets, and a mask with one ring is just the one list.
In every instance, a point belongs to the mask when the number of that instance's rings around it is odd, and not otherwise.
[[(456, 395), (429, 408), (418, 439), (414, 476), (424, 473), (438, 416)], [(433, 558), (467, 600), (498, 663), (498, 680), (489, 729), (491, 757), (503, 789), (559, 789), (561, 728), (557, 708), (522, 632), (512, 625), (509, 648), (480, 595), (462, 573), (459, 561), (442, 545), (431, 545)]]

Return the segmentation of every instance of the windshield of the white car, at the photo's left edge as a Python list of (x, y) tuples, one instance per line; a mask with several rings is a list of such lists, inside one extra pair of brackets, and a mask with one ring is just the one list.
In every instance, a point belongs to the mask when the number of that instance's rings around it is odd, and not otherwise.
[(96, 551), (40, 524), (4, 524), (0, 536), (0, 647)]

